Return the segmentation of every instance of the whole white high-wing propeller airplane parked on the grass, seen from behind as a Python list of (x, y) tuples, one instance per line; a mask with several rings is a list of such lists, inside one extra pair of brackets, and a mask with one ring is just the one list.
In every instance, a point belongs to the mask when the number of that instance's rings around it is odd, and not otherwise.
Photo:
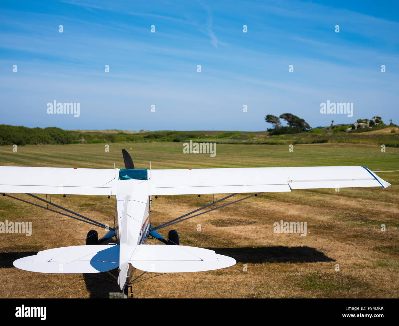
[[(192, 217), (225, 207), (262, 192), (293, 189), (382, 187), (390, 184), (364, 166), (311, 166), (286, 168), (218, 168), (138, 170), (132, 158), (122, 150), (125, 169), (36, 168), (0, 166), (0, 191), (27, 193), (46, 203), (37, 207), (69, 216), (109, 230), (98, 241), (98, 233), (89, 231), (86, 246), (70, 246), (43, 250), (33, 256), (14, 261), (14, 266), (39, 273), (100, 273), (118, 268), (117, 282), (124, 293), (130, 284), (146, 272), (186, 273), (232, 266), (236, 261), (213, 250), (180, 246), (175, 230), (165, 239), (157, 230)], [(83, 215), (56, 205), (37, 194), (116, 196), (115, 227), (109, 228)], [(150, 224), (152, 196), (231, 193), (188, 214), (157, 227)], [(255, 193), (217, 206), (238, 193)], [(199, 196), (199, 195), (198, 195)], [(56, 207), (66, 213), (50, 209)], [(212, 208), (213, 206), (213, 208)], [(207, 211), (195, 214), (209, 208)], [(193, 215), (194, 214), (194, 215)], [(75, 216), (73, 216), (75, 215)], [(115, 236), (115, 244), (99, 244)], [(146, 244), (149, 236), (172, 246)], [(143, 271), (132, 280), (135, 269)], [(112, 274), (111, 274), (112, 275)]]

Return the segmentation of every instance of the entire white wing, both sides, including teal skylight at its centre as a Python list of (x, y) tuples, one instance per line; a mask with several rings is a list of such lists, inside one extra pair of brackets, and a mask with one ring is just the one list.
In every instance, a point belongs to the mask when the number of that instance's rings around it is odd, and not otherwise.
[(0, 166), (0, 192), (116, 195), (118, 182), (147, 181), (148, 195), (250, 193), (292, 189), (383, 187), (363, 166), (126, 170)]

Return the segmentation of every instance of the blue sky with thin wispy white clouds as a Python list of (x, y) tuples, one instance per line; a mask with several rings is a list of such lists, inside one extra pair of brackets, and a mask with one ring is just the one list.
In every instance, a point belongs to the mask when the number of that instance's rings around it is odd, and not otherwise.
[[(399, 123), (398, 7), (396, 1), (2, 2), (0, 123), (261, 131), (271, 127), (266, 114), (282, 113), (312, 127), (374, 115)], [(54, 100), (79, 102), (80, 116), (47, 114)], [(321, 114), (328, 100), (353, 102), (353, 117)]]

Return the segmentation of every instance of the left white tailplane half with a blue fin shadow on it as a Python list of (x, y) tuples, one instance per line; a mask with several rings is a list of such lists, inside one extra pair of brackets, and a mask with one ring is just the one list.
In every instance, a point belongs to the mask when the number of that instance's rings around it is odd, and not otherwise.
[(101, 273), (119, 267), (119, 245), (48, 249), (17, 259), (13, 265), (37, 273)]

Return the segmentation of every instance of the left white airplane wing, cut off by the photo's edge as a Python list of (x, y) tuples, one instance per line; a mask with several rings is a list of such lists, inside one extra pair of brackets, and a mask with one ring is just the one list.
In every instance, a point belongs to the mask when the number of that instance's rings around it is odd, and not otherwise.
[(0, 166), (0, 192), (115, 195), (115, 176), (114, 169)]

